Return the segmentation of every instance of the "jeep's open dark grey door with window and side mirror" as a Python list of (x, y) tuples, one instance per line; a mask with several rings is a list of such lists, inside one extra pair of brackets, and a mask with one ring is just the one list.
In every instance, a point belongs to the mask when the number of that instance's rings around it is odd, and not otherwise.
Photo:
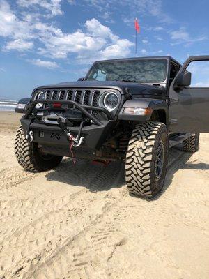
[(209, 56), (190, 56), (171, 83), (169, 131), (209, 132)]

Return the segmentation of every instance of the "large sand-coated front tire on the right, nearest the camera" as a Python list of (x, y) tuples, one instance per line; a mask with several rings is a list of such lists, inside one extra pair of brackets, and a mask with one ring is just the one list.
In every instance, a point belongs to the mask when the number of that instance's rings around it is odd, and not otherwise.
[(163, 123), (144, 122), (134, 128), (125, 164), (125, 179), (131, 194), (154, 197), (162, 190), (168, 149), (168, 133)]

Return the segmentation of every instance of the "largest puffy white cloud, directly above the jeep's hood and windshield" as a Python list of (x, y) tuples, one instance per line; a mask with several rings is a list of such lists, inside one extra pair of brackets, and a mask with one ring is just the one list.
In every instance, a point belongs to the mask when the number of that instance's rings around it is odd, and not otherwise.
[(68, 54), (77, 54), (77, 59), (84, 62), (93, 61), (97, 57), (124, 57), (130, 54), (133, 43), (116, 36), (109, 27), (105, 27), (94, 18), (87, 20), (86, 31), (75, 33), (57, 31), (45, 38), (45, 48), (40, 52), (53, 58), (67, 58)]

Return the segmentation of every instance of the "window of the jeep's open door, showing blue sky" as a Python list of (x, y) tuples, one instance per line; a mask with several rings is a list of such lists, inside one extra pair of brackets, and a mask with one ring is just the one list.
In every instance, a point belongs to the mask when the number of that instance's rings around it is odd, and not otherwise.
[(187, 66), (192, 73), (191, 87), (209, 87), (209, 61), (192, 61)]

